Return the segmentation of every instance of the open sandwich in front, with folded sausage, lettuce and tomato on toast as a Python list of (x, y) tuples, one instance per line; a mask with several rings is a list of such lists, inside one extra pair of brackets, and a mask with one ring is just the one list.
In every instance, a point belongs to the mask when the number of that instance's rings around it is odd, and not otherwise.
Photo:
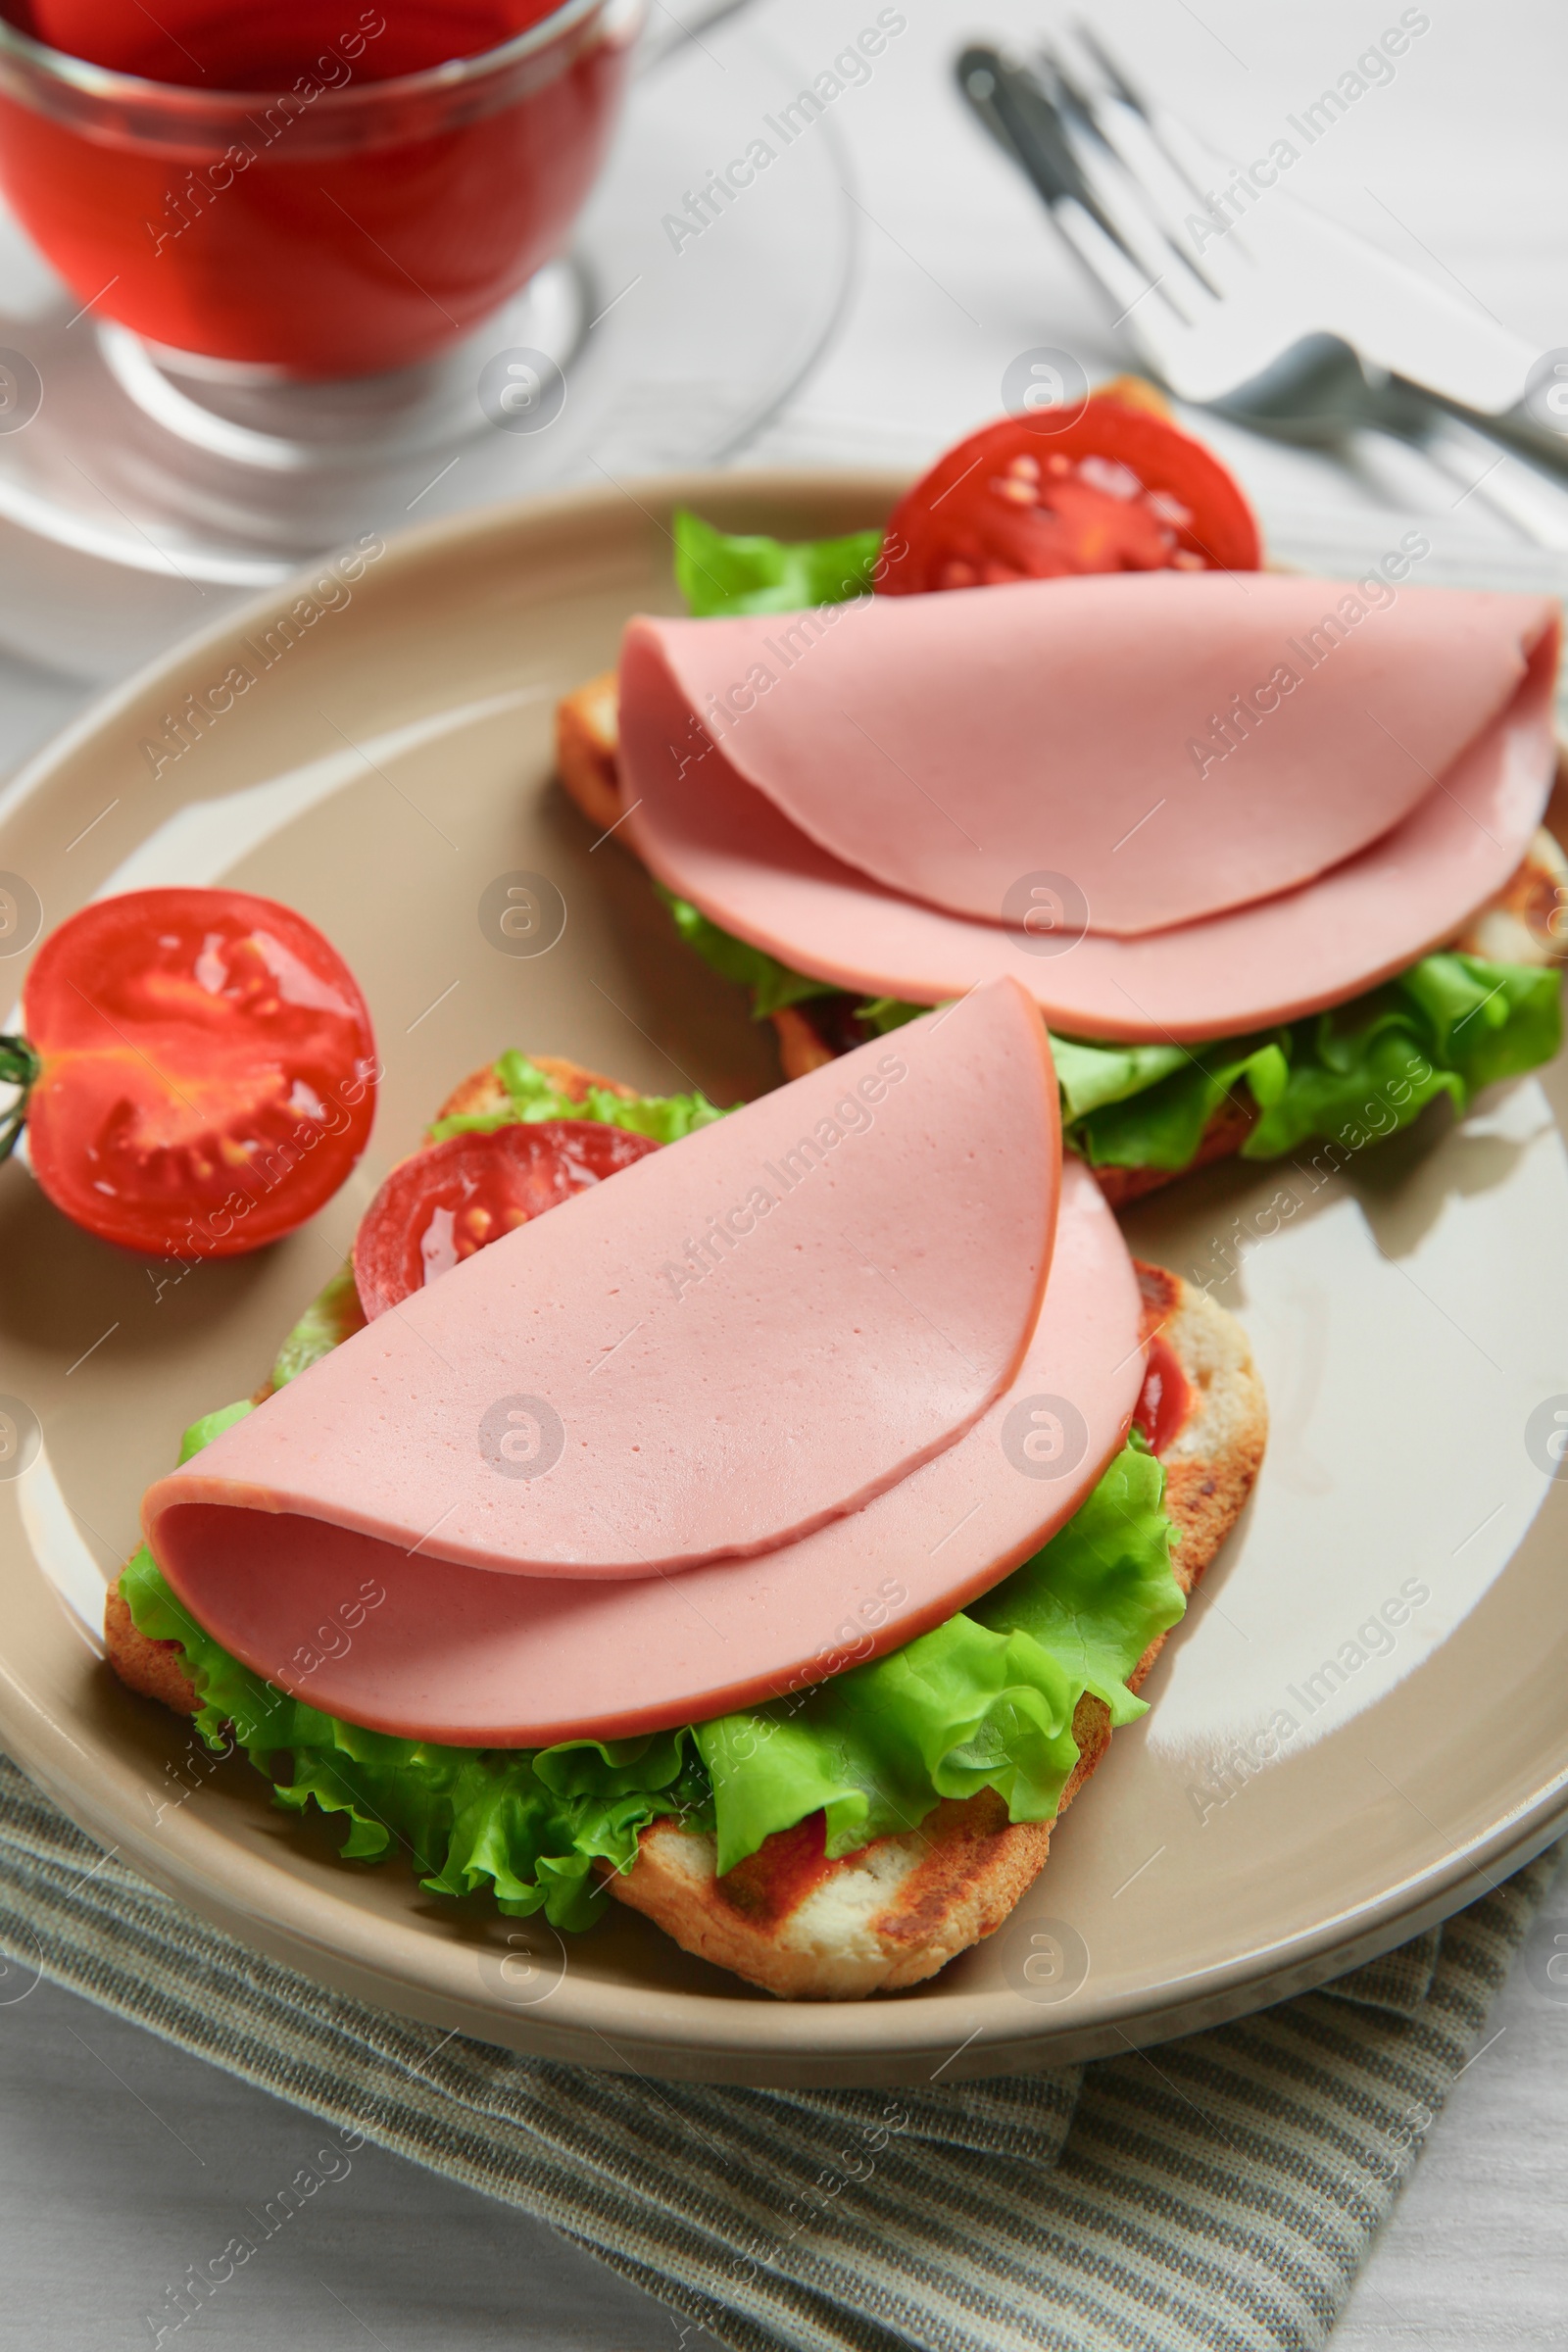
[(1009, 1917), (1262, 1442), (1016, 981), (726, 1115), (508, 1054), (148, 1489), (108, 1656), (350, 1858), (863, 1997)]

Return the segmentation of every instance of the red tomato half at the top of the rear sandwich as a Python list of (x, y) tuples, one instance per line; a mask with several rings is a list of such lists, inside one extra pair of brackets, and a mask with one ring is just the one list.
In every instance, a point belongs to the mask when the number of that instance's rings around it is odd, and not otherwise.
[(877, 586), (924, 595), (1260, 562), (1258, 522), (1218, 456), (1150, 409), (1093, 397), (1060, 430), (1004, 416), (938, 459), (893, 508)]

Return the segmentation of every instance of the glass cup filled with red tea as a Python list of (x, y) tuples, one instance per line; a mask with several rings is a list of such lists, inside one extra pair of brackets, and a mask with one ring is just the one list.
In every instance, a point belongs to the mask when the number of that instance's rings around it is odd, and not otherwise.
[(407, 367), (552, 259), (642, 0), (0, 0), (0, 186), (94, 318)]

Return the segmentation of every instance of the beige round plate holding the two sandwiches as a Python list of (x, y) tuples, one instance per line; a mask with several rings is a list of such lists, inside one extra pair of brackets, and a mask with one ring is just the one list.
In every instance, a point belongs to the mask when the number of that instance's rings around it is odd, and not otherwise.
[[(1154, 1712), (1117, 1733), (1013, 1919), (917, 1992), (780, 2004), (625, 1912), (567, 1950), (425, 1896), (402, 1863), (343, 1865), (320, 1820), (273, 1811), (242, 1759), (214, 1764), (101, 1663), (92, 1625), (143, 1486), (266, 1371), (465, 1070), (517, 1044), (719, 1101), (778, 1080), (771, 1030), (552, 786), (552, 703), (614, 661), (630, 612), (675, 607), (672, 503), (806, 536), (879, 520), (896, 489), (715, 475), (416, 532), (190, 640), (0, 804), (0, 870), (45, 924), (153, 882), (301, 908), (360, 974), (388, 1070), (371, 1152), (315, 1225), (183, 1277), (0, 1171), (0, 1392), (45, 1437), (0, 1479), (5, 1745), (244, 1943), (588, 2065), (924, 2082), (1154, 2042), (1385, 1950), (1568, 1811), (1568, 1486), (1544, 1451), (1559, 1399), (1568, 1428), (1561, 1068), (1345, 1174), (1232, 1164), (1131, 1218), (1145, 1256), (1246, 1319), (1274, 1442)], [(564, 894), (543, 955), (480, 927), (510, 873)]]

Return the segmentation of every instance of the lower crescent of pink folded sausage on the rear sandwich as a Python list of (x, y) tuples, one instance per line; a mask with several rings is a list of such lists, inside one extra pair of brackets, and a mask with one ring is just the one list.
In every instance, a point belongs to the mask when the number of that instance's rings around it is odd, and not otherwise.
[[(1009, 593), (987, 588), (969, 602)], [(1077, 927), (1027, 938), (1023, 924), (997, 929), (903, 898), (818, 849), (724, 774), (717, 750), (684, 774), (651, 764), (628, 830), (658, 880), (712, 922), (839, 988), (938, 1004), (1011, 974), (1063, 1035), (1241, 1035), (1403, 971), (1507, 882), (1552, 793), (1554, 675), (1556, 630), (1547, 630), (1507, 710), (1354, 858), (1295, 891), (1145, 938)]]

